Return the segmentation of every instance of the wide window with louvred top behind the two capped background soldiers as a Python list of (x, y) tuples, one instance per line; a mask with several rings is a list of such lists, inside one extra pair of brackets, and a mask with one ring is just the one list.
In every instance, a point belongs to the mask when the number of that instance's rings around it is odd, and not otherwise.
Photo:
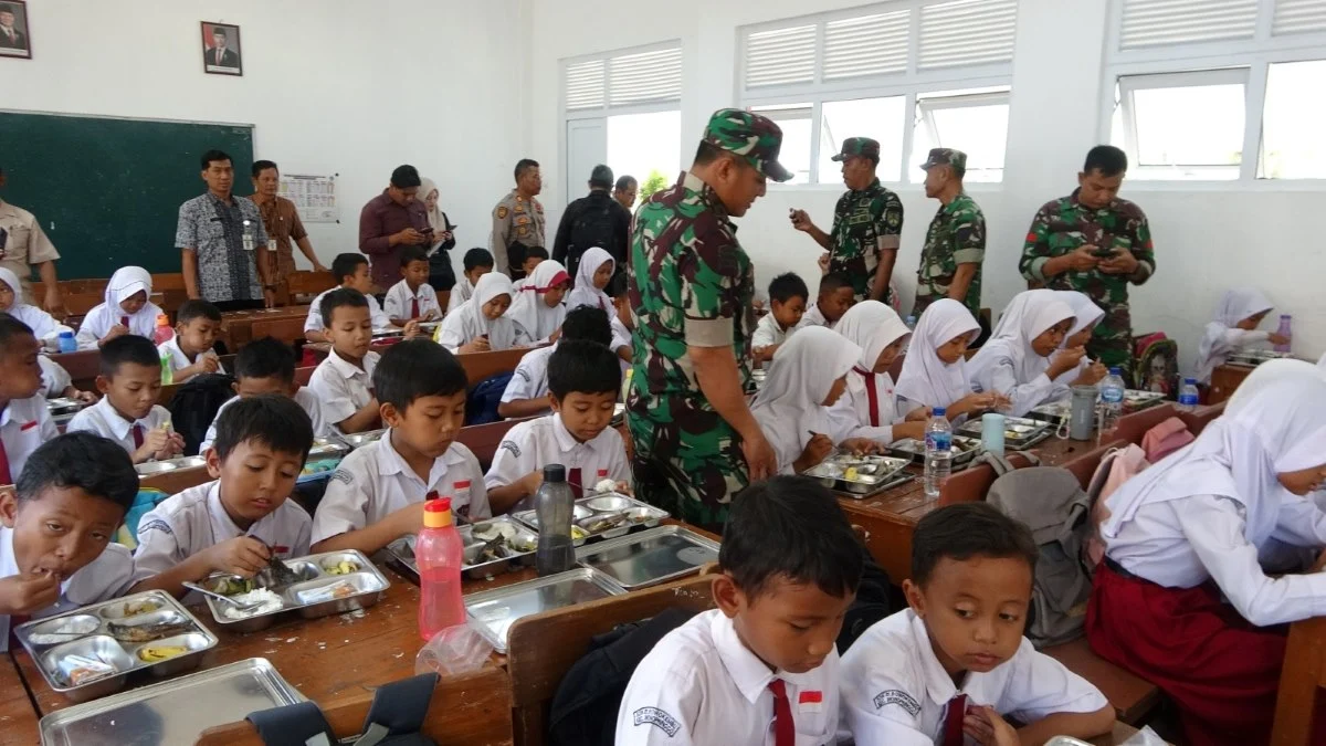
[(849, 137), (879, 141), (886, 182), (939, 146), (1000, 181), (1016, 25), (1016, 0), (894, 0), (747, 27), (739, 96), (782, 127), (793, 185), (839, 183)]

